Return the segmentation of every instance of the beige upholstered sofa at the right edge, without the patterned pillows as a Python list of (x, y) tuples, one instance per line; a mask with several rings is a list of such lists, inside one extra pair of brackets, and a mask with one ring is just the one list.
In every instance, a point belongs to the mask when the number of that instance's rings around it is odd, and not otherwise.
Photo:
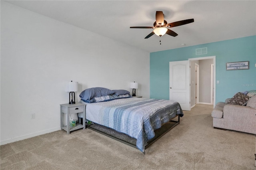
[(213, 127), (256, 134), (256, 95), (246, 106), (219, 102), (212, 111)]

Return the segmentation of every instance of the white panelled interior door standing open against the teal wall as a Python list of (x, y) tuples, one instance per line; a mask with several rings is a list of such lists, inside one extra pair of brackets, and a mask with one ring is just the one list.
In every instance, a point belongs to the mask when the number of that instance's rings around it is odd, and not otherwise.
[(182, 110), (190, 111), (190, 61), (172, 61), (170, 71), (170, 100), (180, 103)]

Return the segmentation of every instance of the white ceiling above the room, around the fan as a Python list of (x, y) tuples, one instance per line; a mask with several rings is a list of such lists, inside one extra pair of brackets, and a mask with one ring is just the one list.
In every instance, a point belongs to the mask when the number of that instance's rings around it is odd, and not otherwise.
[[(6, 1), (44, 16), (72, 24), (90, 32), (136, 46), (148, 52), (256, 35), (256, 1), (96, 1), (96, 0), (16, 0)], [(176, 37), (153, 35), (156, 11), (163, 11), (168, 23), (194, 18), (194, 22), (170, 28)], [(159, 41), (162, 44), (160, 45)]]

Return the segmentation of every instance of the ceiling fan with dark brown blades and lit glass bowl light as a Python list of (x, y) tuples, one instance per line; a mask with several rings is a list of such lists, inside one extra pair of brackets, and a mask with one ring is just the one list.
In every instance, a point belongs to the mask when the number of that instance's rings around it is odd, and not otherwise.
[(170, 36), (176, 37), (178, 34), (172, 30), (169, 30), (167, 28), (172, 28), (176, 26), (182, 26), (185, 24), (189, 24), (191, 22), (194, 22), (194, 19), (188, 19), (188, 20), (181, 20), (177, 22), (172, 22), (170, 24), (167, 24), (166, 20), (164, 20), (164, 14), (162, 11), (156, 11), (156, 21), (154, 22), (153, 27), (130, 27), (130, 28), (152, 28), (154, 29), (153, 32), (148, 34), (145, 38), (150, 38), (154, 34), (157, 36), (163, 36), (164, 34), (168, 34)]

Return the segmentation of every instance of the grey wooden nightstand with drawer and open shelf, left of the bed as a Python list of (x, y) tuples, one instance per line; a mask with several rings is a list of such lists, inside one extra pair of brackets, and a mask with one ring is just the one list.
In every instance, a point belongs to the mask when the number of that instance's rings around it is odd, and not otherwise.
[[(77, 113), (83, 113), (83, 125), (80, 123), (76, 123), (75, 127), (70, 127), (69, 125), (69, 117), (72, 114), (77, 114)], [(66, 125), (63, 125), (63, 117), (64, 114), (66, 114)], [(85, 129), (85, 104), (83, 103), (76, 103), (76, 104), (62, 104), (60, 105), (60, 128), (61, 130), (66, 130), (67, 134), (70, 134), (71, 131), (77, 130), (80, 128)]]

